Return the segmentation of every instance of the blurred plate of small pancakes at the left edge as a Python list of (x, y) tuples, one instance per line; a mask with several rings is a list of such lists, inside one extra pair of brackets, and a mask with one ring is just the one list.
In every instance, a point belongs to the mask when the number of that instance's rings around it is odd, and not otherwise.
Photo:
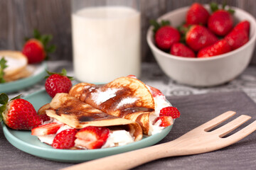
[(5, 65), (4, 81), (0, 83), (0, 93), (18, 91), (36, 84), (46, 76), (45, 62), (28, 64), (28, 59), (18, 51), (0, 51), (0, 61), (0, 69)]

